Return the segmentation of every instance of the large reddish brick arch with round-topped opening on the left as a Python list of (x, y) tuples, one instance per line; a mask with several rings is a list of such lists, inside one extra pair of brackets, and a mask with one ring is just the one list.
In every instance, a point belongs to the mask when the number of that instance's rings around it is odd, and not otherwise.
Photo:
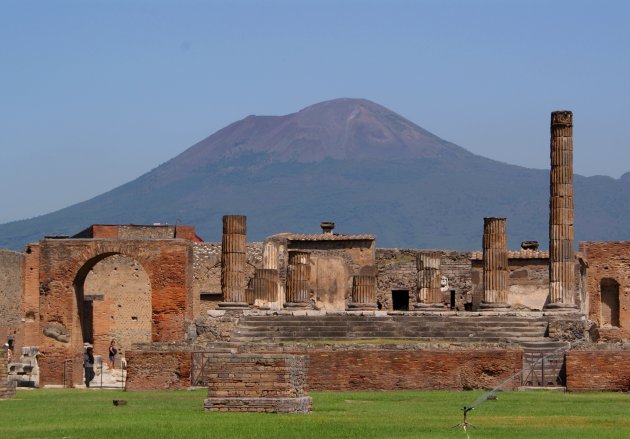
[[(64, 367), (66, 376), (71, 374), (74, 383), (81, 381), (83, 337), (78, 304), (82, 299), (83, 281), (94, 265), (115, 254), (137, 261), (149, 278), (151, 340), (184, 339), (186, 322), (192, 319), (192, 245), (189, 241), (46, 239), (40, 246), (42, 384), (63, 382)], [(62, 340), (43, 335), (51, 324), (67, 333)], [(71, 373), (68, 360), (72, 365)]]

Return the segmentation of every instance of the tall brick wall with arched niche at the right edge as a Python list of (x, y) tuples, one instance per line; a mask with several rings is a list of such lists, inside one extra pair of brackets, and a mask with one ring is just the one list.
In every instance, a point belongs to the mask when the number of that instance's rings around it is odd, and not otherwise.
[[(604, 341), (630, 339), (630, 242), (581, 242), (588, 268), (585, 287), (588, 295), (588, 316), (596, 322)], [(610, 306), (602, 302), (602, 289), (615, 293), (618, 322), (608, 321)]]

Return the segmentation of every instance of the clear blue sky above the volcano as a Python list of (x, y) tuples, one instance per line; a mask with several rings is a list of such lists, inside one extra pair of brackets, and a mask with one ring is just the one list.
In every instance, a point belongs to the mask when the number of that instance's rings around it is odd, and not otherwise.
[(0, 223), (131, 181), (247, 115), (365, 98), (469, 151), (630, 171), (630, 2), (0, 0)]

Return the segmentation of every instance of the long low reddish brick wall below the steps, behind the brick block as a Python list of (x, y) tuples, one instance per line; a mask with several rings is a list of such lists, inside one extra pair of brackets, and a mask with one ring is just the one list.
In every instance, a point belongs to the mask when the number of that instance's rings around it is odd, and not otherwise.
[[(264, 350), (265, 347), (257, 349)], [(280, 350), (283, 348), (269, 348)], [(520, 350), (299, 349), (308, 357), (310, 390), (402, 390), (493, 388), (513, 377), (506, 390), (520, 385)], [(260, 352), (259, 352), (260, 353)], [(178, 389), (190, 385), (189, 352), (127, 353), (129, 390)], [(180, 362), (181, 361), (181, 365)]]

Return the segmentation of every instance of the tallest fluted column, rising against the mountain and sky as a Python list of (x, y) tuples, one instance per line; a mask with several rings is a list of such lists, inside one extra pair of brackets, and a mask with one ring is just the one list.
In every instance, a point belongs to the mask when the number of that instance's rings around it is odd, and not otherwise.
[(549, 198), (549, 303), (546, 309), (575, 305), (573, 249), (573, 113), (551, 113)]

